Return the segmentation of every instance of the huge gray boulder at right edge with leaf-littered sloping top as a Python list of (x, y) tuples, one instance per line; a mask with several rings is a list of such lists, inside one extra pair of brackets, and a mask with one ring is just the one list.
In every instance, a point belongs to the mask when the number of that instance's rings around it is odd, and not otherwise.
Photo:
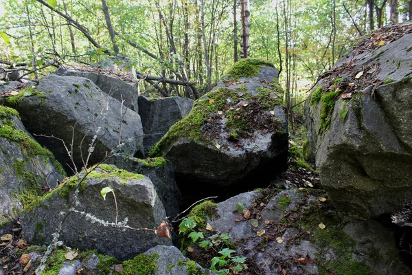
[(321, 183), (336, 208), (355, 217), (393, 213), (412, 200), (411, 30), (377, 30), (306, 100)]

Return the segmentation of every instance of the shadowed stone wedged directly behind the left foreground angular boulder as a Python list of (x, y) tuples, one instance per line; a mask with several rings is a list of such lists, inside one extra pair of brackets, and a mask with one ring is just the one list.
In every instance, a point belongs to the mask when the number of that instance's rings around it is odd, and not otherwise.
[[(154, 166), (150, 164), (152, 161), (164, 161), (164, 163)], [(106, 163), (149, 177), (170, 220), (173, 220), (179, 214), (181, 192), (174, 180), (174, 170), (171, 162), (165, 159), (137, 159), (118, 154), (107, 159)]]

